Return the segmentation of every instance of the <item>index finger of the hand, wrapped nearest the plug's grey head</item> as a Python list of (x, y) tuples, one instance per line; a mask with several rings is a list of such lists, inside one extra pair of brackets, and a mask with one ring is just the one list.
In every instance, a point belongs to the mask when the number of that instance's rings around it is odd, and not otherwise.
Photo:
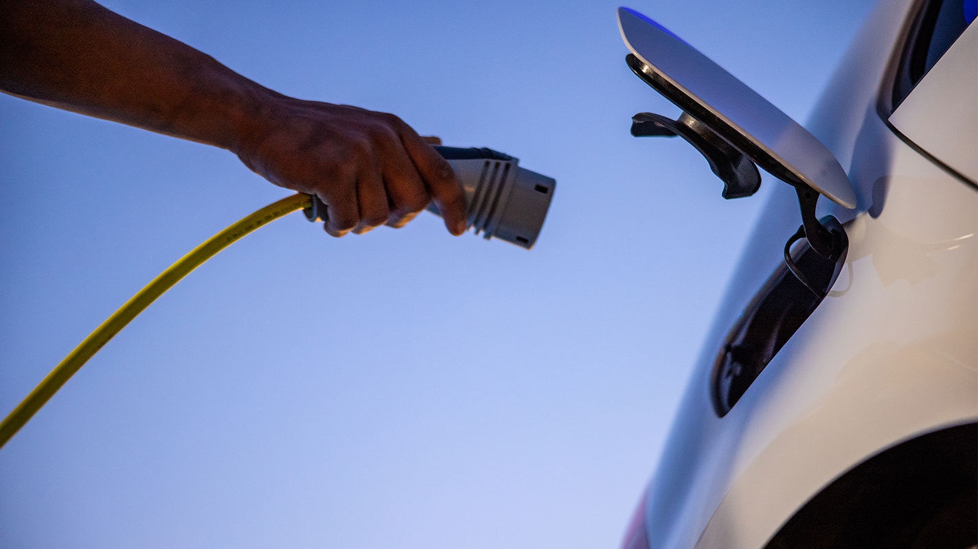
[(418, 168), (418, 173), (421, 174), (431, 199), (441, 212), (445, 227), (455, 235), (466, 232), (468, 228), (466, 194), (448, 160), (424, 143), (414, 131), (404, 132), (401, 139), (411, 161)]

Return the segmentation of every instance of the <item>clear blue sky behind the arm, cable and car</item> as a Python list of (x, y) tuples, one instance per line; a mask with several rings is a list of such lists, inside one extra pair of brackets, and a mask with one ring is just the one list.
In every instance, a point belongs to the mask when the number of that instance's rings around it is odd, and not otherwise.
[[(423, 214), (261, 229), (0, 450), (0, 546), (613, 547), (756, 213), (624, 63), (616, 3), (112, 0), (282, 93), (556, 178), (527, 252)], [(631, 4), (804, 121), (867, 0)], [(0, 96), (0, 410), (287, 195), (234, 155)]]

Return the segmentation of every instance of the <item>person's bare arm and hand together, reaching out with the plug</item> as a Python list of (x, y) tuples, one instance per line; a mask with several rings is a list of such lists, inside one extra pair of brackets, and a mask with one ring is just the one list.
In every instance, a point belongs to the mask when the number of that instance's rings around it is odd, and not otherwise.
[(430, 201), (453, 234), (452, 168), (393, 114), (304, 101), (88, 0), (0, 0), (0, 90), (227, 148), (275, 185), (318, 195), (333, 236), (403, 227)]

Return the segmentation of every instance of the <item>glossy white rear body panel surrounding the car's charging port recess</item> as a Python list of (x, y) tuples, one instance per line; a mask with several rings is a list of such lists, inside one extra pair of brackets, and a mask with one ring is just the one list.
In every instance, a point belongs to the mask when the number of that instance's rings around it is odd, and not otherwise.
[(800, 223), (793, 190), (772, 190), (648, 487), (649, 547), (763, 546), (861, 461), (978, 419), (978, 192), (904, 142), (877, 110), (912, 5), (876, 6), (807, 125), (856, 192), (856, 210), (821, 204), (845, 223), (845, 268), (717, 417), (714, 359)]

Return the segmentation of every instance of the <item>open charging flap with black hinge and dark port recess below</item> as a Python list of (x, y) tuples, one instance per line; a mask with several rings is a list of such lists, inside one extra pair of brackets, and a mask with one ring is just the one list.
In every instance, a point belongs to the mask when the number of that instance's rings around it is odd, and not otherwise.
[(758, 168), (798, 195), (801, 226), (784, 246), (784, 264), (733, 326), (715, 364), (713, 401), (723, 416), (815, 311), (845, 262), (846, 232), (834, 217), (816, 217), (819, 196), (854, 208), (856, 194), (822, 142), (682, 38), (628, 8), (618, 9), (618, 27), (629, 68), (683, 110), (675, 120), (640, 112), (632, 135), (686, 140), (723, 181), (724, 198), (756, 192)]

